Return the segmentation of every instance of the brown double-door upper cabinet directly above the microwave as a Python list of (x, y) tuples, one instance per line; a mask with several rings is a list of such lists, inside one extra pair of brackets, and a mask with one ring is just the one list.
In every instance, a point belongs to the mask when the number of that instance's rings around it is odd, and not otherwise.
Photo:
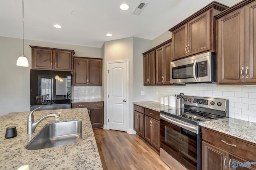
[(216, 21), (214, 15), (228, 8), (212, 2), (180, 22), (172, 32), (172, 61), (198, 53), (216, 51)]

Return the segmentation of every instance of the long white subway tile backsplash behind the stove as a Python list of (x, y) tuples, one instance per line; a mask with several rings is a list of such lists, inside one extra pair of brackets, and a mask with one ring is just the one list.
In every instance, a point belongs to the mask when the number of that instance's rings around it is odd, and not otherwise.
[(229, 99), (229, 117), (256, 122), (256, 86), (188, 84), (186, 86), (153, 86), (152, 90), (152, 100), (156, 102), (160, 102), (160, 97), (174, 95), (174, 93)]

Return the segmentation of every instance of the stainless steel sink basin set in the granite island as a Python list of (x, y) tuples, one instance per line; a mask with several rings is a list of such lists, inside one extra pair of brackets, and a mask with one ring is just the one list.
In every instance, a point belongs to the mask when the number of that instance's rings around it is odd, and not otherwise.
[(46, 125), (26, 149), (36, 150), (75, 143), (82, 139), (82, 121), (57, 122)]

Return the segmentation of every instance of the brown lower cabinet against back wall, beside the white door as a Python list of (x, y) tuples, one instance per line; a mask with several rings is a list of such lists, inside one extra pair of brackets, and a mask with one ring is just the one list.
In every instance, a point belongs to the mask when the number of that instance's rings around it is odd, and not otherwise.
[(72, 108), (87, 107), (92, 128), (103, 128), (104, 125), (104, 102), (81, 102), (72, 103)]

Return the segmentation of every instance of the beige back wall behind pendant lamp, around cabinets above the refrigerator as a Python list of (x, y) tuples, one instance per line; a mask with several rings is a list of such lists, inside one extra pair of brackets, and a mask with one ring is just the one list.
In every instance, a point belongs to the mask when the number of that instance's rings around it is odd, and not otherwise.
[(29, 67), (19, 67), (16, 61), (22, 54), (22, 40), (0, 37), (0, 116), (30, 110), (31, 48), (28, 45), (74, 49), (74, 56), (102, 58), (101, 48), (24, 40)]

